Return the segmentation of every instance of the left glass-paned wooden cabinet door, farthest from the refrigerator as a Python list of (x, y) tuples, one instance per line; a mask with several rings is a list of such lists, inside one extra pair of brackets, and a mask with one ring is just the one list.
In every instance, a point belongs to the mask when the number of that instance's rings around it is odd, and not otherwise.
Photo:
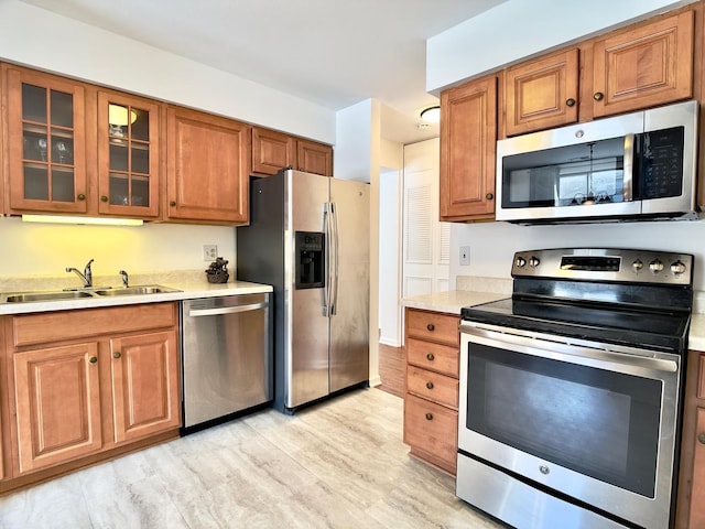
[(85, 213), (84, 88), (7, 67), (10, 209)]

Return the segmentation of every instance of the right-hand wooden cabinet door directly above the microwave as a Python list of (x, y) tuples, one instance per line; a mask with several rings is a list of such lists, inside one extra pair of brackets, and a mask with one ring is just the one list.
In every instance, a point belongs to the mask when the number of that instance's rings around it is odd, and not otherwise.
[(596, 41), (594, 117), (693, 97), (693, 32), (688, 10)]

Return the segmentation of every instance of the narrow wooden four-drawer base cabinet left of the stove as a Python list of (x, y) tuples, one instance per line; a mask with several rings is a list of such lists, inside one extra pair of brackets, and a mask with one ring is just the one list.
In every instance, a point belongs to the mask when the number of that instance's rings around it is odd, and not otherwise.
[(406, 309), (404, 443), (412, 455), (455, 474), (459, 317)]

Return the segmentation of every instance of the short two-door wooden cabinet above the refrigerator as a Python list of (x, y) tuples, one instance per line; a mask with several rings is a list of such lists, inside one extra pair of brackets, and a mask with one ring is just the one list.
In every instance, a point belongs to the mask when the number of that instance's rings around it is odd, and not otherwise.
[(283, 168), (333, 174), (333, 148), (283, 132), (252, 127), (252, 173), (275, 174)]

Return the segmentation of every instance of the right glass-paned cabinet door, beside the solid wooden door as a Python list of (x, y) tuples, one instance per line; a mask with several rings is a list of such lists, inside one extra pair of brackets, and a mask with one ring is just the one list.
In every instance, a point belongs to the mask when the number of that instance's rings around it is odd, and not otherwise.
[(159, 215), (159, 104), (98, 93), (98, 212)]

